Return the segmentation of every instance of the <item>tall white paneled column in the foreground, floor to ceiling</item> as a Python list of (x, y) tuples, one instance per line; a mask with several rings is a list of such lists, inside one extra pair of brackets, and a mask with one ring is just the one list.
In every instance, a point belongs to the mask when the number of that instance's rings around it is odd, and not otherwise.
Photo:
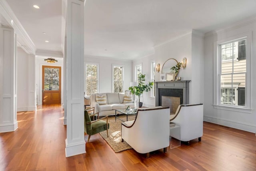
[(84, 1), (67, 0), (66, 157), (86, 153), (84, 141)]

